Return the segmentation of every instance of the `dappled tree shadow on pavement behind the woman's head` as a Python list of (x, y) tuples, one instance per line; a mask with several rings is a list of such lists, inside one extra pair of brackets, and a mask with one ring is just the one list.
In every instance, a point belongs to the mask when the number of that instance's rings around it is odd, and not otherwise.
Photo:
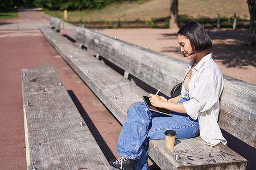
[[(238, 67), (246, 69), (245, 66), (256, 67), (256, 48), (247, 46), (249, 31), (246, 29), (207, 29), (212, 39), (213, 47), (209, 52), (213, 53), (213, 59), (219, 60), (226, 67)], [(177, 39), (175, 33), (162, 34), (163, 39)], [(179, 54), (178, 46), (164, 47), (163, 52), (174, 52)]]

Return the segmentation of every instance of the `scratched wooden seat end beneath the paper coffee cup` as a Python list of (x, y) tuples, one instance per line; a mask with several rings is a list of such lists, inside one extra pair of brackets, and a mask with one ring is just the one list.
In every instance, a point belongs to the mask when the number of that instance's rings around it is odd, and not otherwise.
[[(149, 155), (161, 164), (161, 169), (245, 169), (247, 162), (245, 159), (240, 159), (238, 155), (230, 148), (222, 143), (220, 145), (210, 147), (205, 146), (205, 142), (200, 137), (191, 139), (176, 139), (175, 147), (164, 147), (165, 141), (154, 140), (153, 147), (150, 141)], [(193, 146), (191, 144), (193, 143)], [(164, 148), (164, 150), (163, 150)], [(168, 159), (158, 159), (159, 153), (166, 155)], [(180, 156), (179, 160), (175, 159), (175, 155)], [(162, 158), (162, 157), (161, 157)], [(163, 157), (164, 158), (164, 157)], [(166, 162), (171, 161), (175, 168), (170, 168)]]

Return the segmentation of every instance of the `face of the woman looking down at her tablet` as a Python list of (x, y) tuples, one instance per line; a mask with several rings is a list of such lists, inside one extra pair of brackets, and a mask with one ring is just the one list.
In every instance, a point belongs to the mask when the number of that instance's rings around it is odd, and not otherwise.
[(192, 53), (192, 46), (188, 38), (184, 35), (178, 35), (177, 40), (180, 45), (180, 52), (184, 54), (184, 57), (187, 57), (188, 59), (194, 58), (195, 54), (189, 55)]

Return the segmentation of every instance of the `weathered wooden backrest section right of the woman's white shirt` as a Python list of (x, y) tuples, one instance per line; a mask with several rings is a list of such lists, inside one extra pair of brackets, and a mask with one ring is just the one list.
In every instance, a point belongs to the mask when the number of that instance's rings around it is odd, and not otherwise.
[(224, 75), (218, 124), (228, 133), (256, 147), (256, 86)]

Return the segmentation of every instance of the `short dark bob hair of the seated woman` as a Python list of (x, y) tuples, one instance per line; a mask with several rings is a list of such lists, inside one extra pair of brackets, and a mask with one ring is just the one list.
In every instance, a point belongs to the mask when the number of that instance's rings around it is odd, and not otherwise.
[(200, 53), (212, 48), (212, 41), (205, 31), (204, 27), (197, 22), (190, 22), (183, 25), (177, 35), (183, 35), (188, 38), (192, 47), (192, 53)]

